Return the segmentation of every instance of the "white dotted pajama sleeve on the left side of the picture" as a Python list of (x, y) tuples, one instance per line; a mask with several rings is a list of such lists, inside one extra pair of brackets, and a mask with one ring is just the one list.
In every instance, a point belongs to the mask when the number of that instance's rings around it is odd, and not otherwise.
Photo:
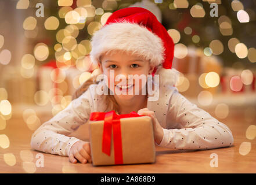
[(52, 119), (40, 125), (31, 136), (32, 149), (68, 156), (71, 146), (80, 139), (67, 135), (89, 119), (89, 96), (89, 90), (85, 91)]

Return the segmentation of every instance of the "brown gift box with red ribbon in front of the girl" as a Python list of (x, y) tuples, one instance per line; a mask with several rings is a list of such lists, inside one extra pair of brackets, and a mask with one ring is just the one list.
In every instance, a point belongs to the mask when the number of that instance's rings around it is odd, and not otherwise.
[(89, 119), (92, 164), (154, 163), (156, 151), (152, 119), (136, 112), (92, 112)]

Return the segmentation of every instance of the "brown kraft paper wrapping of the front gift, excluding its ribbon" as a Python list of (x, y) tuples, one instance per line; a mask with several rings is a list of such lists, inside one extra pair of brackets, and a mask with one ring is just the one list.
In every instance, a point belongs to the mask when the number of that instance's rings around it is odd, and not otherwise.
[[(125, 117), (119, 120), (122, 149), (121, 164), (154, 163), (156, 161), (156, 151), (151, 117)], [(89, 139), (93, 166), (116, 165), (113, 128), (111, 128), (110, 156), (103, 153), (103, 128), (104, 119), (89, 120)]]

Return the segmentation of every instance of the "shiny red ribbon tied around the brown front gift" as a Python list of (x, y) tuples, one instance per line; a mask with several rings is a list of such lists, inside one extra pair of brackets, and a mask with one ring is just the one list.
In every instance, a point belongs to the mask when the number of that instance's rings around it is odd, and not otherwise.
[(111, 146), (111, 131), (113, 127), (113, 142), (114, 142), (114, 158), (115, 164), (123, 164), (122, 160), (122, 136), (120, 119), (125, 117), (140, 117), (138, 113), (132, 111), (129, 114), (117, 115), (114, 110), (110, 112), (92, 112), (90, 115), (91, 121), (104, 120), (103, 136), (102, 136), (102, 151), (110, 156)]

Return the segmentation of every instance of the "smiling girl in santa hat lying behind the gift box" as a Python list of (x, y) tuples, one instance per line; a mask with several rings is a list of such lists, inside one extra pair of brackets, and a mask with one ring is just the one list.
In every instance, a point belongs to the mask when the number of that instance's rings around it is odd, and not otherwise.
[[(181, 150), (232, 146), (230, 129), (188, 101), (174, 86), (179, 75), (171, 68), (174, 42), (149, 10), (136, 7), (117, 10), (95, 32), (91, 43), (91, 60), (99, 65), (107, 81), (93, 76), (82, 84), (67, 108), (33, 133), (33, 149), (68, 156), (73, 163), (91, 162), (89, 142), (67, 135), (86, 123), (91, 112), (111, 110), (118, 114), (135, 111), (152, 117), (158, 146)], [(114, 72), (112, 77), (111, 71)], [(128, 86), (116, 82), (117, 75), (122, 75)], [(154, 95), (142, 93), (148, 83), (143, 84), (140, 79), (139, 94), (135, 95), (135, 81), (129, 79), (129, 75), (152, 75), (157, 99), (152, 101), (150, 98)], [(110, 86), (111, 80), (114, 86)], [(104, 91), (107, 93), (99, 93), (99, 90), (107, 90)], [(117, 94), (117, 90), (132, 93)]]

